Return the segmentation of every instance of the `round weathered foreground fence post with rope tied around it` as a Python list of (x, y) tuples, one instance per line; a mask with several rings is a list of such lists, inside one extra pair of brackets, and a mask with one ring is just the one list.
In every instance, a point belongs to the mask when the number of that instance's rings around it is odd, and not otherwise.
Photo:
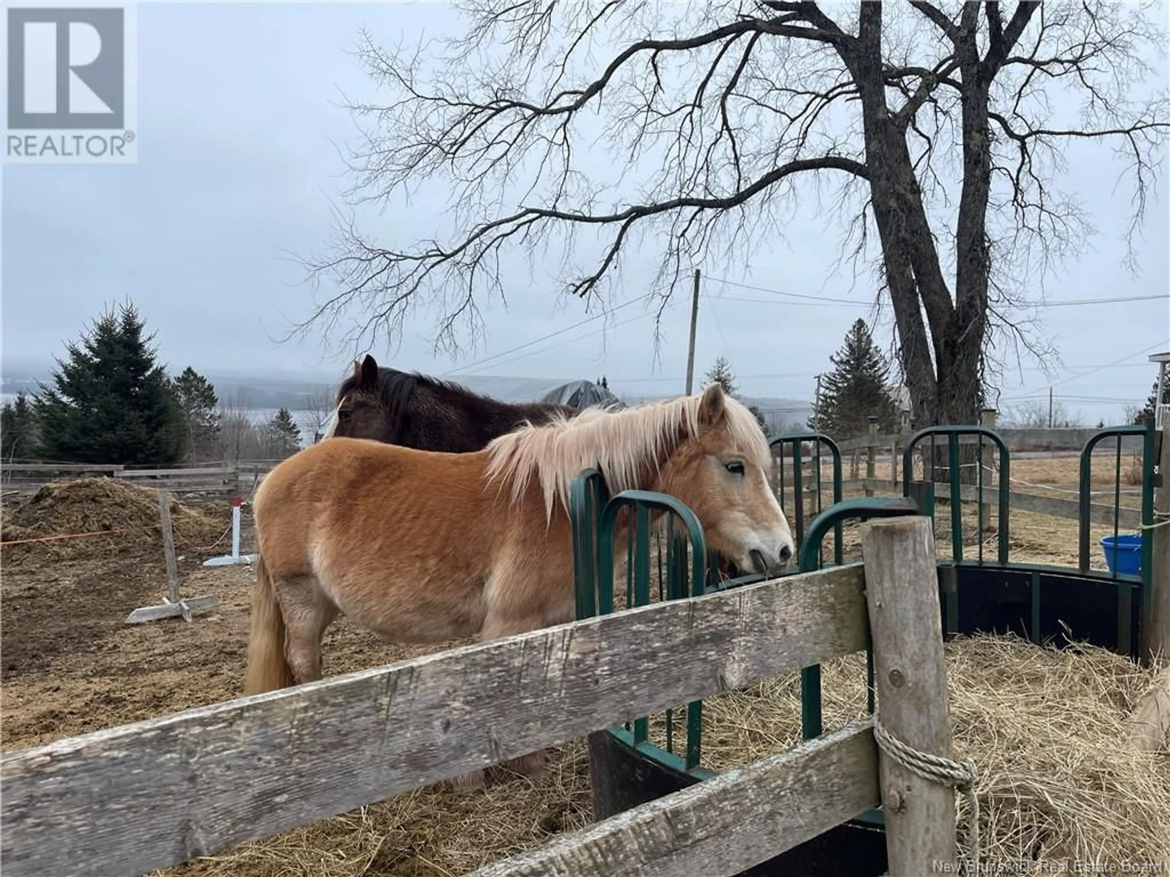
[[(873, 638), (878, 711), (874, 734), (889, 873), (957, 873), (955, 793), (916, 757), (951, 758), (947, 667), (938, 623), (930, 519), (892, 518), (862, 530), (866, 602)], [(955, 764), (961, 773), (965, 768)], [(954, 781), (952, 781), (954, 782)]]

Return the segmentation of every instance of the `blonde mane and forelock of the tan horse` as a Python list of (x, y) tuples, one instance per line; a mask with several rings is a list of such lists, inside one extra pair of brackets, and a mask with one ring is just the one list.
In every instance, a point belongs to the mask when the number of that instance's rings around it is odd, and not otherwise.
[[(539, 426), (526, 422), (488, 444), (488, 482), (510, 479), (511, 502), (516, 503), (535, 472), (549, 518), (557, 499), (569, 510), (570, 488), (583, 469), (599, 468), (612, 493), (635, 489), (645, 470), (658, 470), (680, 438), (698, 435), (701, 400), (702, 393), (617, 412), (586, 408), (576, 417), (557, 414)], [(724, 426), (731, 441), (766, 470), (771, 451), (756, 416), (729, 395), (724, 395)]]

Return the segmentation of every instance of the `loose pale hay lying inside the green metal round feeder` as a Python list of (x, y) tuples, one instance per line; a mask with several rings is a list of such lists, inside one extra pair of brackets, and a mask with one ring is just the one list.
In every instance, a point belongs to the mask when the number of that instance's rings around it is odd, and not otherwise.
[[(821, 667), (825, 730), (865, 717), (865, 656)], [(1090, 645), (971, 636), (947, 644), (947, 675), (955, 755), (979, 771), (984, 863), (1025, 862), (1024, 873), (1170, 869), (1170, 748), (1140, 752), (1127, 737), (1156, 670)], [(684, 739), (680, 720), (675, 733)], [(663, 740), (659, 720), (652, 741)], [(728, 769), (799, 743), (799, 674), (704, 702), (707, 766)], [(966, 802), (957, 800), (965, 851)]]

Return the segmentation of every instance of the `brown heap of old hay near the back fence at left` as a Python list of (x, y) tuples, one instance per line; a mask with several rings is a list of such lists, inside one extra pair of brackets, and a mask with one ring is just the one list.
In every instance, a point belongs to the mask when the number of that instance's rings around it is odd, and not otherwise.
[[(173, 496), (170, 505), (176, 547), (200, 547), (222, 533), (225, 523), (220, 518), (190, 509)], [(161, 527), (157, 491), (117, 478), (60, 481), (46, 484), (19, 506), (6, 506), (0, 516), (0, 540), (5, 543), (80, 533), (90, 536), (5, 545), (4, 560), (64, 560), (111, 551), (158, 550)]]

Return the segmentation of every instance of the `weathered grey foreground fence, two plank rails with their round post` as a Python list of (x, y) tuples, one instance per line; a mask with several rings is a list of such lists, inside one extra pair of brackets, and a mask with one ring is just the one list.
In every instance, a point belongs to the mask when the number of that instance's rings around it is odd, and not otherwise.
[[(932, 553), (929, 519), (869, 526), (890, 567), (875, 581), (896, 582), (880, 588), (881, 612), (937, 617), (932, 567), (921, 581), (899, 568), (915, 540)], [(787, 576), (5, 753), (0, 868), (140, 875), (855, 652), (875, 612), (866, 581), (861, 565)], [(922, 667), (930, 649), (908, 649), (922, 637), (938, 640), (938, 667)], [(945, 678), (937, 624), (886, 624), (873, 648), (911, 683)], [(943, 700), (928, 714), (945, 720)], [(888, 712), (887, 731), (922, 737), (897, 725), (913, 710)], [(883, 759), (858, 723), (481, 873), (589, 877), (645, 862), (640, 873), (731, 875), (878, 806)], [(909, 813), (899, 831), (949, 837), (952, 862), (954, 813)]]

